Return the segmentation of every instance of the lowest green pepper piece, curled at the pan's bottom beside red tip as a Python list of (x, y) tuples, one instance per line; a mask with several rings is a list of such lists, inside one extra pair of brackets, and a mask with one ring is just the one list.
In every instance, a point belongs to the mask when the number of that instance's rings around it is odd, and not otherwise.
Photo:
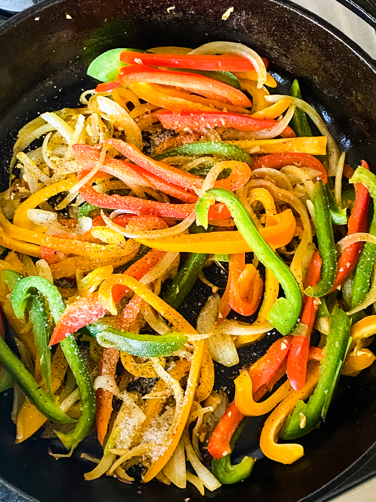
[[(235, 443), (237, 442), (241, 431), (246, 425), (246, 420), (243, 419), (240, 424), (235, 429), (230, 441), (231, 451), (234, 449)], [(255, 461), (252, 457), (244, 457), (239, 464), (231, 464), (231, 453), (225, 455), (222, 458), (213, 458), (211, 461), (211, 467), (214, 476), (218, 479), (219, 483), (223, 485), (232, 485), (234, 483), (239, 483), (247, 477), (250, 476), (253, 465)]]

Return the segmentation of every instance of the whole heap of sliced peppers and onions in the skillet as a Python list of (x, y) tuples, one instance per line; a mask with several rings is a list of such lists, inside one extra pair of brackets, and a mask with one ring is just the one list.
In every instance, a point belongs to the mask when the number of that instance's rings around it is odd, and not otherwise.
[[(43, 427), (59, 458), (93, 433), (86, 479), (131, 483), (138, 465), (145, 483), (204, 494), (250, 476), (252, 456), (231, 460), (248, 417), (265, 415), (264, 455), (298, 461), (284, 441), (373, 363), (376, 176), (345, 163), (297, 80), (275, 93), (267, 66), (229, 42), (114, 49), (81, 108), (19, 131), (0, 195), (14, 331), (0, 391), (14, 387), (17, 443)], [(184, 302), (200, 284), (194, 327)], [(238, 365), (272, 331), (229, 403), (214, 362)]]

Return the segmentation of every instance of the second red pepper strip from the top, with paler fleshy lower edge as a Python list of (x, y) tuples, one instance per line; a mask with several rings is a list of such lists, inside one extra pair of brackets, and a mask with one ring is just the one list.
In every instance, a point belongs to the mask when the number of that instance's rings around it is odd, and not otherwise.
[(126, 86), (133, 82), (160, 83), (167, 86), (182, 87), (209, 99), (225, 101), (238, 107), (248, 108), (252, 106), (251, 101), (241, 91), (226, 83), (196, 73), (173, 72), (142, 65), (130, 65), (120, 69), (118, 78)]

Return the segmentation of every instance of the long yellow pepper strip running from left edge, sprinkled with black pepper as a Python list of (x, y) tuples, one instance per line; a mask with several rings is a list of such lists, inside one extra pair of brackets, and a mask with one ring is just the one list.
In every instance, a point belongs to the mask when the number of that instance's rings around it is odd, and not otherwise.
[(87, 257), (115, 258), (132, 253), (135, 248), (135, 243), (131, 239), (125, 244), (93, 244), (91, 242), (83, 242), (68, 238), (53, 237), (51, 235), (42, 234), (31, 231), (28, 228), (21, 228), (10, 223), (3, 214), (0, 213), (0, 226), (10, 237), (18, 238), (22, 241), (39, 244), (42, 246), (51, 247), (62, 251), (63, 253), (71, 253)]

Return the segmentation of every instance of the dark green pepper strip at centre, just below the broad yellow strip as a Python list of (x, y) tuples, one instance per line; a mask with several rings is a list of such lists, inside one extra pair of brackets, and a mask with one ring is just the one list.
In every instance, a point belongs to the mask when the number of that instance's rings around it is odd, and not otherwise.
[(176, 309), (183, 303), (200, 275), (206, 261), (204, 253), (189, 253), (187, 260), (168, 286), (162, 299)]

